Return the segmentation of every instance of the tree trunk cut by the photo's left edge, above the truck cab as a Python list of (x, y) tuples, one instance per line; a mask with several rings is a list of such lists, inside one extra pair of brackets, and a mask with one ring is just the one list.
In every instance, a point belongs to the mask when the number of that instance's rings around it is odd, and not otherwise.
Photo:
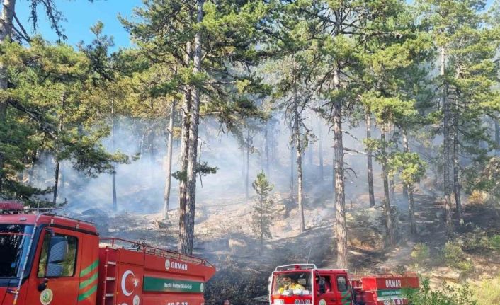
[[(2, 1), (2, 11), (0, 16), (0, 44), (11, 38), (12, 18), (16, 8), (16, 0)], [(7, 88), (7, 71), (0, 64), (0, 91)], [(4, 99), (0, 100), (0, 125), (5, 125), (7, 120), (7, 103)], [(0, 154), (0, 194), (2, 193), (4, 182), (4, 155)]]

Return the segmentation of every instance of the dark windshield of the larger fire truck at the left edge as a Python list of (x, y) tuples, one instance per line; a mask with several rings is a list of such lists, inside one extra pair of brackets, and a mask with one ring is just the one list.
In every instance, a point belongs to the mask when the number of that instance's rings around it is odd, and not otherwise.
[(21, 276), (33, 226), (0, 224), (0, 277)]

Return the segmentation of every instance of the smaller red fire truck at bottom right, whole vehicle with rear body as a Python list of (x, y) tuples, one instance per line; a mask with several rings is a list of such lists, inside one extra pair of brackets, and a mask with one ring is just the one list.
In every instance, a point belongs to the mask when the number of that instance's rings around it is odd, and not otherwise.
[(415, 274), (349, 277), (314, 264), (276, 267), (268, 283), (271, 305), (407, 305), (402, 289), (418, 288)]

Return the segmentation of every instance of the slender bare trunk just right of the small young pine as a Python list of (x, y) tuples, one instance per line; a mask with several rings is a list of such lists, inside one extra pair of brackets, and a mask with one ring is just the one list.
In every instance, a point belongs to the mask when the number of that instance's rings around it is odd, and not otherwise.
[(304, 190), (302, 185), (302, 143), (300, 142), (300, 113), (297, 100), (297, 92), (293, 98), (293, 137), (295, 139), (295, 150), (297, 151), (297, 197), (299, 202), (300, 233), (305, 231), (304, 221)]

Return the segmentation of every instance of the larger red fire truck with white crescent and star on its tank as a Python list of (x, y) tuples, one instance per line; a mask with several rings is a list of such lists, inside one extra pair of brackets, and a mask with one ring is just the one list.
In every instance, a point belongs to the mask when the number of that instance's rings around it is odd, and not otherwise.
[(1, 305), (203, 305), (215, 267), (0, 202)]

